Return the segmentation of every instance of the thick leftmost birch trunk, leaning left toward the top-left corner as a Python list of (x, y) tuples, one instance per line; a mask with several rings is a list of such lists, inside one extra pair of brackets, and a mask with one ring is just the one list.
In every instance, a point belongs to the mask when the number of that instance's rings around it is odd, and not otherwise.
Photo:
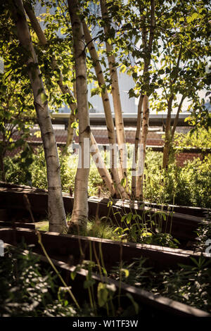
[(18, 39), (26, 58), (27, 70), (34, 95), (34, 107), (37, 112), (41, 137), (44, 144), (46, 158), (48, 192), (49, 192), (49, 230), (63, 232), (67, 228), (65, 209), (60, 182), (60, 163), (56, 139), (53, 133), (48, 101), (41, 80), (41, 73), (37, 65), (37, 56), (32, 45), (30, 31), (25, 18), (25, 11), (21, 0), (13, 0), (13, 14), (17, 27)]

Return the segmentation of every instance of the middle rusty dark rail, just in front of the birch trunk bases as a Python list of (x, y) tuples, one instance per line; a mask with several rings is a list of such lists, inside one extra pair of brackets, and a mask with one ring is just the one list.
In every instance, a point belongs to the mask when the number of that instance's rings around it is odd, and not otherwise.
[[(25, 241), (27, 245), (34, 245), (34, 252), (41, 254), (34, 230), (0, 227), (0, 239), (8, 244), (18, 244)], [(155, 270), (164, 270), (177, 268), (178, 263), (192, 264), (190, 257), (198, 258), (200, 256), (199, 252), (193, 253), (193, 251), (183, 249), (123, 243), (78, 235), (58, 235), (57, 232), (41, 232), (41, 239), (49, 256), (65, 263), (71, 260), (73, 264), (77, 264), (82, 257), (89, 260), (90, 250), (94, 261), (101, 260), (102, 252), (103, 262), (108, 270), (119, 263), (121, 258), (127, 263), (134, 261), (134, 258), (147, 258), (148, 266), (155, 268)], [(203, 256), (208, 258), (205, 253)]]

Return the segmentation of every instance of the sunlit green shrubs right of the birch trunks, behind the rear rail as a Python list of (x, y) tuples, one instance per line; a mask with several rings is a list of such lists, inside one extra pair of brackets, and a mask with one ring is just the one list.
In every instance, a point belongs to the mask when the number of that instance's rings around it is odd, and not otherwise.
[(183, 168), (171, 163), (167, 171), (162, 170), (161, 160), (161, 153), (146, 154), (146, 201), (210, 208), (210, 155), (186, 161)]

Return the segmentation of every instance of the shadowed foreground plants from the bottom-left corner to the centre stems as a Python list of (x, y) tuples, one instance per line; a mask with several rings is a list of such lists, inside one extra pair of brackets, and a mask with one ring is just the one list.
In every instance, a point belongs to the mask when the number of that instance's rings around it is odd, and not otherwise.
[[(80, 306), (77, 297), (75, 304), (72, 304), (69, 295), (71, 286), (68, 286), (59, 274), (57, 277), (51, 270), (45, 270), (39, 258), (30, 251), (25, 251), (23, 254), (24, 246), (22, 244), (15, 249), (7, 248), (6, 256), (1, 263), (0, 317), (94, 317), (134, 314), (133, 306), (136, 303), (132, 296), (129, 296), (131, 305), (129, 304), (124, 311), (122, 308), (118, 310), (115, 308), (113, 304), (113, 295), (117, 290), (115, 285), (98, 282), (94, 293), (93, 285), (96, 283), (92, 278), (94, 268), (100, 268), (107, 275), (106, 269), (100, 265), (96, 266), (94, 261), (82, 261), (68, 274), (69, 281), (74, 282), (77, 271), (81, 268), (89, 271), (82, 284), (87, 295), (80, 302)], [(60, 286), (61, 280), (66, 286)], [(120, 296), (120, 293), (117, 296)], [(138, 311), (139, 306), (136, 304), (135, 312)]]

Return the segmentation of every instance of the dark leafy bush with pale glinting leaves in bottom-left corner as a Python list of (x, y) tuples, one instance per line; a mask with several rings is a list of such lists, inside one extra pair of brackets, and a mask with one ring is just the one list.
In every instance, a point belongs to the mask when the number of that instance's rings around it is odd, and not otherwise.
[[(0, 316), (74, 316), (50, 271), (41, 270), (37, 257), (7, 249), (0, 267)], [(6, 277), (5, 277), (6, 275)]]

